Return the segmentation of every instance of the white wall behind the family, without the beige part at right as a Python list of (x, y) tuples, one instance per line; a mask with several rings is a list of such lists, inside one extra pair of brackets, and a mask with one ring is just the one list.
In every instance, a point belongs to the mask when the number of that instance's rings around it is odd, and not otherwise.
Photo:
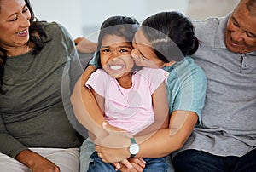
[(98, 31), (111, 15), (133, 16), (140, 22), (162, 10), (185, 13), (187, 0), (31, 0), (38, 20), (58, 21), (73, 37), (88, 36)]

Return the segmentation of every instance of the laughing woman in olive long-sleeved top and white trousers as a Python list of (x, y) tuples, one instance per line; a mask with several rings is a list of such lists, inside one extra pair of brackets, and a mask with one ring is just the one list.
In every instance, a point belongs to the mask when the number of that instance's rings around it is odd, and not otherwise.
[(63, 78), (83, 71), (72, 37), (35, 20), (29, 0), (0, 0), (0, 32), (1, 171), (79, 171), (81, 140), (61, 93)]

